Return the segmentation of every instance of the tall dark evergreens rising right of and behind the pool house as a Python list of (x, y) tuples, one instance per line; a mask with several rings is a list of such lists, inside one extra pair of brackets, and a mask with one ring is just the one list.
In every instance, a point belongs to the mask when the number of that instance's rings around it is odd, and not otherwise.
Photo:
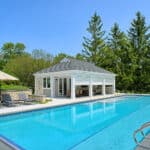
[(126, 33), (114, 23), (107, 36), (101, 17), (95, 13), (87, 32), (80, 59), (114, 72), (120, 91), (150, 92), (150, 26), (140, 12)]

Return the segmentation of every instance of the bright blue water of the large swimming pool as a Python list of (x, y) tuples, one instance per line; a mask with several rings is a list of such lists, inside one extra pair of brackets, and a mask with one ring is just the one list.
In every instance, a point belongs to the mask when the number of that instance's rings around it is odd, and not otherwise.
[(150, 97), (127, 96), (0, 117), (0, 134), (26, 150), (133, 150)]

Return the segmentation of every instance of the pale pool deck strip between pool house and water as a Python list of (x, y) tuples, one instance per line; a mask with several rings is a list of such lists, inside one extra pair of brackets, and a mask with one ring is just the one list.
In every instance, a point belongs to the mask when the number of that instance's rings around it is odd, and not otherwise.
[(59, 106), (82, 103), (82, 102), (90, 102), (90, 101), (95, 101), (95, 100), (105, 101), (107, 98), (117, 97), (117, 96), (122, 96), (122, 95), (125, 95), (125, 94), (117, 93), (117, 94), (113, 94), (113, 95), (94, 96), (92, 98), (82, 97), (82, 98), (76, 98), (76, 99), (53, 98), (51, 102), (48, 102), (46, 104), (19, 105), (16, 107), (0, 106), (0, 116), (18, 113), (18, 112), (26, 112), (26, 111), (44, 109), (44, 108), (59, 107)]

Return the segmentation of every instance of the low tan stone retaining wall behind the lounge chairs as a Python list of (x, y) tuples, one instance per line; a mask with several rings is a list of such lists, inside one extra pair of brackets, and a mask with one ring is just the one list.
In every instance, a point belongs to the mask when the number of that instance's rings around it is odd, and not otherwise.
[(12, 100), (19, 100), (18, 94), (19, 93), (25, 93), (27, 96), (32, 95), (32, 90), (27, 91), (2, 91), (2, 94), (9, 94), (12, 98)]

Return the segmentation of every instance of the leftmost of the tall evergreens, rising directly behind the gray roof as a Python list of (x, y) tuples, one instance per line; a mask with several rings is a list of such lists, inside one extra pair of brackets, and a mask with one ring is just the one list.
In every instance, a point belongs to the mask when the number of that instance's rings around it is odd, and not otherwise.
[(99, 61), (99, 55), (101, 50), (105, 48), (104, 34), (102, 30), (103, 23), (97, 13), (95, 13), (89, 21), (89, 27), (87, 28), (90, 37), (83, 37), (83, 57), (95, 64)]

